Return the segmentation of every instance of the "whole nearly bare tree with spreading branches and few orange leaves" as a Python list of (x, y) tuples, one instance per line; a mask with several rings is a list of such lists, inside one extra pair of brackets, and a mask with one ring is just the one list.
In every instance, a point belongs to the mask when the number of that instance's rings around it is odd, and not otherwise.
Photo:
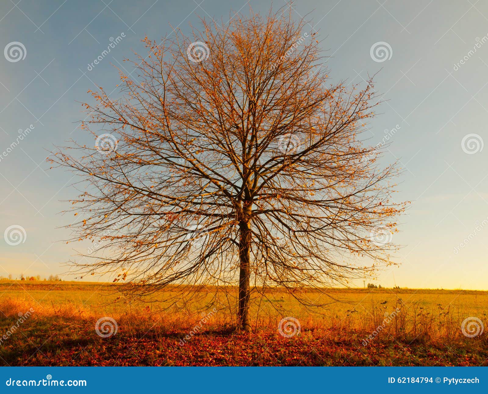
[(85, 182), (73, 241), (96, 243), (80, 270), (138, 293), (238, 285), (248, 331), (252, 294), (279, 286), (311, 306), (297, 289), (391, 263), (404, 205), (390, 200), (394, 165), (360, 138), (372, 82), (331, 85), (307, 21), (282, 9), (202, 25), (144, 39), (122, 95), (84, 104), (95, 147), (71, 141), (50, 160)]

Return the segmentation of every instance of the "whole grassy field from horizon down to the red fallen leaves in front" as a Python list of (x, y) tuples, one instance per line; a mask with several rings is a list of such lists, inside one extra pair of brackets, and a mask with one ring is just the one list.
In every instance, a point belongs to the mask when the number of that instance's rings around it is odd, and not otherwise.
[(0, 365), (488, 366), (483, 291), (310, 291), (329, 302), (312, 313), (276, 290), (254, 306), (251, 334), (208, 306), (211, 288), (199, 292), (194, 307), (165, 308), (125, 300), (117, 285), (1, 281)]

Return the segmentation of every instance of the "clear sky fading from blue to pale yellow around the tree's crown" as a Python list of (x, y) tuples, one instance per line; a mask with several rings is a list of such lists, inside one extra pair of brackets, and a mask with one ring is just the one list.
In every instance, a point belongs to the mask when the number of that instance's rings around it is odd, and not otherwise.
[[(271, 5), (248, 3), (255, 12)], [(0, 275), (61, 274), (74, 254), (60, 241), (73, 217), (59, 212), (67, 207), (61, 200), (75, 196), (76, 178), (48, 170), (45, 158), (54, 144), (86, 139), (75, 122), (85, 117), (79, 101), (91, 100), (87, 90), (112, 91), (113, 65), (144, 53), (146, 35), (160, 39), (171, 26), (185, 32), (198, 16), (228, 20), (240, 9), (248, 12), (243, 0), (0, 2), (0, 235), (14, 232), (14, 241), (0, 237)], [(297, 18), (310, 13), (333, 82), (360, 83), (380, 71), (375, 88), (388, 101), (371, 123), (370, 142), (396, 129), (385, 163), (400, 159), (395, 198), (412, 204), (394, 235), (404, 245), (402, 265), (376, 283), (488, 289), (488, 3), (315, 0), (294, 9)], [(25, 230), (18, 245), (9, 244), (17, 243), (11, 226)]]

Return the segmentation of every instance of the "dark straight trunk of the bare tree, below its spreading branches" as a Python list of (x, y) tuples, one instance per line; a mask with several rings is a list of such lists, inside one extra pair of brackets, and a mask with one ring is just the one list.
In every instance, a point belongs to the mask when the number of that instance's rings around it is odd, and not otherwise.
[(239, 241), (239, 326), (244, 331), (251, 331), (249, 319), (249, 278), (250, 278), (250, 249), (251, 249), (251, 226), (249, 221), (239, 223), (241, 237)]

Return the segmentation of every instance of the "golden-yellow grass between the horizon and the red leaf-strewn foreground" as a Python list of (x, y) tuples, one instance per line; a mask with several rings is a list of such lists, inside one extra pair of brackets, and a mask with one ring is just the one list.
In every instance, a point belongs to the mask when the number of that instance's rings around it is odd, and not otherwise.
[[(167, 298), (171, 288), (158, 296)], [(143, 303), (124, 299), (117, 285), (75, 282), (0, 282), (0, 310), (7, 317), (35, 310), (34, 318), (64, 317), (96, 321), (102, 316), (116, 319), (126, 331), (151, 329), (154, 332), (186, 330), (202, 318), (201, 311), (211, 310), (212, 291), (205, 289), (194, 304)], [(231, 294), (232, 296), (232, 294)], [(327, 295), (309, 291), (305, 296), (318, 303), (330, 303), (320, 313), (312, 313), (292, 296), (270, 291), (266, 299), (255, 302), (252, 316), (255, 328), (276, 328), (287, 316), (299, 320), (305, 330), (328, 329), (344, 337), (395, 338), (405, 341), (450, 341), (462, 339), (462, 322), (468, 317), (487, 323), (488, 294), (473, 290), (427, 289), (329, 289)], [(118, 300), (117, 298), (120, 297)], [(206, 329), (235, 325), (232, 302), (217, 297), (215, 313)], [(397, 309), (398, 308), (398, 309)], [(393, 314), (392, 314), (393, 313)], [(381, 329), (378, 330), (378, 328)]]

